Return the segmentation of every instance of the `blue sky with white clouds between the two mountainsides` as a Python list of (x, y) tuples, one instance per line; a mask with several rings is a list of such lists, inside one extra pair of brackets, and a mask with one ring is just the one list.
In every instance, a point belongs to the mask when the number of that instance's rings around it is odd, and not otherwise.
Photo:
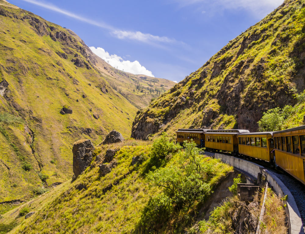
[(8, 0), (74, 31), (110, 65), (179, 82), (283, 0)]

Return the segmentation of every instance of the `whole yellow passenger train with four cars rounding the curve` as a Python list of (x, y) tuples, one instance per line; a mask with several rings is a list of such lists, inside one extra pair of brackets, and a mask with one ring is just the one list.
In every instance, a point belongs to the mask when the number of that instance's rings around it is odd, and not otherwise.
[(176, 143), (194, 141), (206, 151), (228, 152), (278, 166), (305, 185), (305, 125), (274, 132), (178, 129)]

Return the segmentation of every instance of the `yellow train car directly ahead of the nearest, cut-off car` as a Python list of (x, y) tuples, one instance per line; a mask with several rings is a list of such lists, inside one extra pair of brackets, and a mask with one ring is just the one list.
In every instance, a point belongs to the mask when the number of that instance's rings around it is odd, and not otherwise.
[(239, 154), (262, 159), (267, 162), (274, 161), (273, 132), (241, 133), (238, 135)]

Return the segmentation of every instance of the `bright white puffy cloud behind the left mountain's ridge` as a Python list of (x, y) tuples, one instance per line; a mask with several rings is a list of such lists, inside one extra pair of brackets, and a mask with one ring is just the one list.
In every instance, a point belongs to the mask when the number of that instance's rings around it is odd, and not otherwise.
[(109, 54), (107, 51), (105, 51), (101, 47), (95, 48), (94, 46), (89, 47), (93, 53), (95, 53), (97, 56), (105, 60), (107, 63), (109, 63), (114, 68), (117, 68), (121, 71), (130, 72), (132, 74), (137, 75), (148, 75), (155, 77), (151, 71), (147, 70), (144, 66), (142, 66), (137, 60), (131, 62), (129, 60), (123, 60), (120, 56), (117, 56), (116, 54)]

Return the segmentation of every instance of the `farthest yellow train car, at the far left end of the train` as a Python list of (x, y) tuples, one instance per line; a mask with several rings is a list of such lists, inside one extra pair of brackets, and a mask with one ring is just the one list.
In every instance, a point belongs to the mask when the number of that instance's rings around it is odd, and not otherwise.
[(204, 133), (209, 129), (178, 129), (176, 143), (193, 140), (198, 146), (204, 147)]

